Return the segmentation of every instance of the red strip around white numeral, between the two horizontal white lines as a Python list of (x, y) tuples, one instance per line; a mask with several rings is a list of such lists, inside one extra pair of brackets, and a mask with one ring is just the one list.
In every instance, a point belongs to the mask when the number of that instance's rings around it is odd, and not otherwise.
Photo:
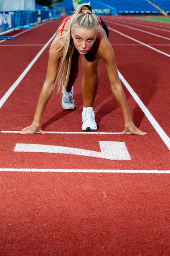
[[(170, 170), (170, 152), (156, 132), (148, 137), (122, 135), (1, 134), (0, 168)], [(153, 138), (154, 137), (154, 138)], [(14, 152), (17, 143), (57, 145), (100, 152), (99, 141), (124, 142), (131, 160), (108, 160), (72, 154)], [(152, 150), (151, 150), (152, 148)]]

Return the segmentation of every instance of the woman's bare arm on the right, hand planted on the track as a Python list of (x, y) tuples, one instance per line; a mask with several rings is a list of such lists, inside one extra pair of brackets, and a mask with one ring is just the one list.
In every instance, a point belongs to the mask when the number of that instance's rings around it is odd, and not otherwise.
[(119, 80), (114, 51), (107, 38), (103, 37), (101, 39), (97, 55), (99, 55), (99, 57), (101, 57), (105, 63), (106, 71), (111, 84), (111, 90), (124, 115), (125, 130), (122, 133), (125, 134), (130, 132), (131, 134), (145, 135), (146, 133), (143, 133), (138, 128), (136, 128), (132, 122), (126, 96), (122, 88), (122, 84)]

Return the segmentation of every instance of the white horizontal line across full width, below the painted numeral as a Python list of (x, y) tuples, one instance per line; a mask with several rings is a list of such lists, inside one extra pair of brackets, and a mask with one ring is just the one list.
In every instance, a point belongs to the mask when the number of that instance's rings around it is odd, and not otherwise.
[(147, 173), (169, 174), (170, 170), (105, 170), (105, 169), (17, 169), (0, 168), (0, 172), (94, 172), (94, 173)]

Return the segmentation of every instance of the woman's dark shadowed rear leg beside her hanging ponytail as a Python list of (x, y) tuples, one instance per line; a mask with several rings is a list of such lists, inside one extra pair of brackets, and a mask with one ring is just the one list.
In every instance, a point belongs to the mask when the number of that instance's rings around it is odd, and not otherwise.
[(71, 60), (70, 77), (69, 77), (69, 81), (66, 89), (68, 93), (71, 92), (71, 88), (75, 83), (77, 76), (79, 74), (79, 56), (80, 56), (79, 54), (73, 54), (73, 57)]

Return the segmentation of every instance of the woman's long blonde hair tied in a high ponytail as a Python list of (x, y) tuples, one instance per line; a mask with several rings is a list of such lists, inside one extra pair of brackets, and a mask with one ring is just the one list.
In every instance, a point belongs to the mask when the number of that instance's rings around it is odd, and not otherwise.
[(80, 26), (85, 29), (95, 29), (96, 34), (98, 33), (99, 22), (92, 14), (91, 6), (89, 4), (84, 3), (75, 9), (68, 31), (62, 37), (60, 37), (62, 40), (60, 43), (60, 48), (57, 50), (57, 52), (62, 50), (63, 58), (56, 79), (57, 92), (59, 92), (60, 89), (62, 90), (65, 88), (66, 90), (67, 88), (71, 70), (71, 59), (74, 51), (74, 41), (71, 38), (71, 31), (76, 26)]

